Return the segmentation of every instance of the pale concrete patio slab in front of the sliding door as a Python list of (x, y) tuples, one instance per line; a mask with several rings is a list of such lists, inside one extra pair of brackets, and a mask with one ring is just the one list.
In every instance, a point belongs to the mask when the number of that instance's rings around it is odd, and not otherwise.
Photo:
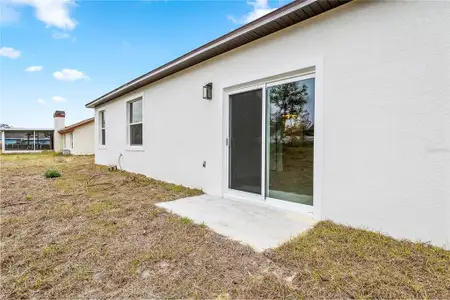
[(160, 202), (158, 207), (195, 223), (204, 223), (217, 233), (253, 247), (257, 251), (275, 248), (310, 229), (316, 221), (298, 212), (283, 210), (252, 200), (211, 195)]

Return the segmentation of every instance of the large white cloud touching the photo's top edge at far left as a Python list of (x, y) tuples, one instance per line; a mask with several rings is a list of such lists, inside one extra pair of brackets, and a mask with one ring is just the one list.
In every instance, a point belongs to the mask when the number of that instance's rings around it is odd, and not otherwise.
[(76, 5), (75, 0), (12, 0), (35, 9), (36, 18), (48, 27), (73, 30), (77, 22), (70, 16), (70, 9)]

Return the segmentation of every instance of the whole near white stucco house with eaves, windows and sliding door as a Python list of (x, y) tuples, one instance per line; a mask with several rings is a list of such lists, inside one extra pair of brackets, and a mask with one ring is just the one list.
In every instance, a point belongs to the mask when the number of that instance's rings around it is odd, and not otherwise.
[(96, 162), (449, 247), (450, 5), (346, 2), (292, 2), (88, 103)]

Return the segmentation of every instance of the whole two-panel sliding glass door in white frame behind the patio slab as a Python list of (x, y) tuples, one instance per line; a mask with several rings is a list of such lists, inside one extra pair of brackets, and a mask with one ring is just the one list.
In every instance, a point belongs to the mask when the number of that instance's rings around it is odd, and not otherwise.
[(313, 205), (314, 91), (311, 75), (230, 95), (230, 190)]

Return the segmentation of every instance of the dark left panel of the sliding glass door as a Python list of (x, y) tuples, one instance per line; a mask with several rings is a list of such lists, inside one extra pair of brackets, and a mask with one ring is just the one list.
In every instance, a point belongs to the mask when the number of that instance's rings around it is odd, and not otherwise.
[(229, 188), (261, 194), (262, 90), (230, 96)]

